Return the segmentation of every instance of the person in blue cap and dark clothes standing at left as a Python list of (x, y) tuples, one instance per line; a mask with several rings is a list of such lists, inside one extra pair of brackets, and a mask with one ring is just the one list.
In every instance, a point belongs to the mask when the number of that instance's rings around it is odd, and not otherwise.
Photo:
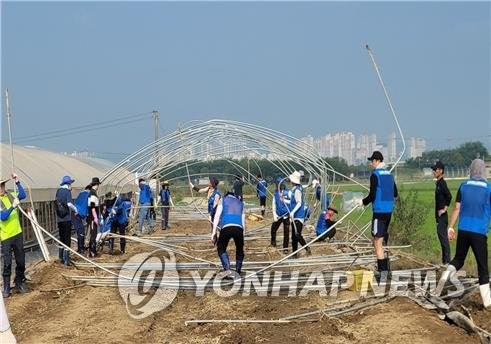
[[(70, 247), (72, 232), (72, 213), (77, 213), (77, 208), (73, 205), (72, 184), (75, 182), (70, 176), (64, 176), (60, 183), (60, 188), (56, 191), (55, 210), (56, 223), (60, 241)], [(60, 262), (66, 266), (70, 265), (70, 251), (63, 247), (58, 248)]]

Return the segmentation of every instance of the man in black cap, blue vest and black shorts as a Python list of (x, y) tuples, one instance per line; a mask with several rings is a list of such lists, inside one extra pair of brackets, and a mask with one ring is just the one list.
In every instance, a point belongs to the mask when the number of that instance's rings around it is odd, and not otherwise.
[(362, 205), (372, 203), (372, 241), (377, 256), (377, 268), (380, 273), (389, 271), (389, 259), (384, 254), (383, 244), (387, 242), (389, 224), (397, 198), (397, 187), (390, 171), (385, 169), (384, 156), (374, 151), (367, 158), (370, 161), (372, 174), (370, 176), (370, 191), (362, 200)]

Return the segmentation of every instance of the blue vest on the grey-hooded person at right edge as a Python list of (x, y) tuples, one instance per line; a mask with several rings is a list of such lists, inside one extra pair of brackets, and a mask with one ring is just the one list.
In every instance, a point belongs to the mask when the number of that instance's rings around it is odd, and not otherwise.
[(459, 230), (487, 235), (491, 218), (491, 184), (469, 179), (460, 185)]

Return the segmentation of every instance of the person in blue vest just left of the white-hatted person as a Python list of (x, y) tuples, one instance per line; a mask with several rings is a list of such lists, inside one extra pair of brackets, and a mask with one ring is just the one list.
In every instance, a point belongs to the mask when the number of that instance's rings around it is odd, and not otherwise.
[(281, 177), (277, 177), (276, 191), (273, 195), (271, 208), (273, 210), (273, 223), (271, 224), (271, 246), (276, 247), (276, 232), (283, 224), (283, 250), (288, 250), (288, 241), (290, 238), (290, 190), (285, 187), (285, 183)]

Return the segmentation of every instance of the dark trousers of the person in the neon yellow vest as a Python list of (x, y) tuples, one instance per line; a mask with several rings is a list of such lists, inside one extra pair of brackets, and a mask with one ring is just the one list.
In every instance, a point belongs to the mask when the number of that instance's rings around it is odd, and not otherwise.
[(12, 272), (12, 251), (15, 256), (15, 284), (25, 280), (26, 271), (26, 255), (24, 253), (24, 238), (22, 233), (19, 233), (7, 240), (2, 241), (2, 260), (3, 260), (3, 272), (4, 278), (10, 278)]

